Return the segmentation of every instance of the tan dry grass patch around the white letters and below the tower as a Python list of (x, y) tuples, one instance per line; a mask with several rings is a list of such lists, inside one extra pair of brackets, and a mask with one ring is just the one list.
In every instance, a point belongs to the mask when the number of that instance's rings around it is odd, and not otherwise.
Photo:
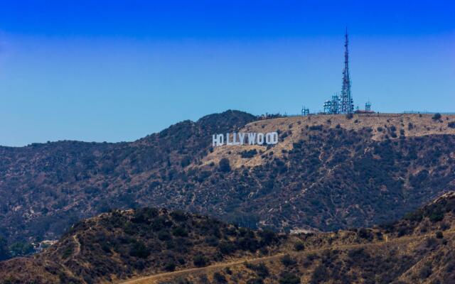
[[(433, 120), (432, 114), (355, 114), (352, 119), (347, 119), (345, 115), (315, 115), (315, 116), (295, 116), (285, 117), (279, 119), (267, 119), (261, 121), (254, 121), (247, 124), (239, 132), (272, 132), (280, 131), (280, 133), (288, 133), (284, 141), (279, 143), (273, 148), (267, 149), (266, 146), (222, 146), (215, 147), (213, 153), (205, 156), (203, 165), (218, 162), (222, 158), (228, 158), (232, 168), (254, 167), (261, 165), (264, 159), (261, 158), (262, 154), (268, 155), (273, 151), (275, 156), (281, 156), (282, 151), (289, 151), (292, 148), (292, 143), (301, 139), (305, 139), (304, 134), (308, 133), (307, 126), (319, 126), (324, 128), (341, 129), (358, 131), (360, 129), (372, 129), (372, 139), (380, 141), (390, 137), (387, 129), (395, 126), (397, 138), (400, 137), (400, 131), (404, 131), (407, 137), (427, 136), (431, 134), (455, 134), (455, 129), (449, 128), (447, 124), (455, 121), (455, 116), (443, 115), (440, 120)], [(412, 125), (412, 127), (410, 127)], [(378, 131), (382, 128), (382, 131)], [(393, 139), (393, 138), (392, 138)], [(240, 153), (245, 150), (256, 149), (259, 153), (253, 158), (241, 158)]]

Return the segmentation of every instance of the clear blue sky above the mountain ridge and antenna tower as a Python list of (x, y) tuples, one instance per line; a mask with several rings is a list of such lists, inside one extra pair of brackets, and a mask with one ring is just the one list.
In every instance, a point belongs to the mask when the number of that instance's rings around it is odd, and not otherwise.
[(355, 105), (455, 111), (454, 1), (0, 0), (0, 145), (319, 111), (346, 26)]

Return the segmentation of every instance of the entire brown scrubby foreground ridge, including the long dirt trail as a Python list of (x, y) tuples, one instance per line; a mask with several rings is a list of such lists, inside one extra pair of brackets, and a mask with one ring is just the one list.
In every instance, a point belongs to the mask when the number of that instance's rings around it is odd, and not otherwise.
[(454, 228), (454, 192), (392, 224), (290, 236), (180, 211), (114, 211), (33, 258), (1, 262), (0, 283), (453, 283)]

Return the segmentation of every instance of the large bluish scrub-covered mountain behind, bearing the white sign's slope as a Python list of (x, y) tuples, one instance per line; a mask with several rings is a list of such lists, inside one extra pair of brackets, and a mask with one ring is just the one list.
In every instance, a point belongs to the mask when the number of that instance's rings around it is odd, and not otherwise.
[[(147, 206), (330, 231), (399, 219), (454, 189), (455, 116), (256, 120), (226, 111), (131, 143), (0, 147), (0, 236), (56, 239), (80, 218)], [(212, 148), (211, 135), (228, 131), (279, 131), (280, 141)]]

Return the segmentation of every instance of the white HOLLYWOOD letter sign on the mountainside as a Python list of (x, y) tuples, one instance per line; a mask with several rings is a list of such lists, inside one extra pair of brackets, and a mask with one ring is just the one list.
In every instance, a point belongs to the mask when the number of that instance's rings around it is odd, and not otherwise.
[(278, 133), (226, 133), (224, 134), (213, 134), (212, 146), (223, 146), (223, 145), (274, 145), (278, 143)]

